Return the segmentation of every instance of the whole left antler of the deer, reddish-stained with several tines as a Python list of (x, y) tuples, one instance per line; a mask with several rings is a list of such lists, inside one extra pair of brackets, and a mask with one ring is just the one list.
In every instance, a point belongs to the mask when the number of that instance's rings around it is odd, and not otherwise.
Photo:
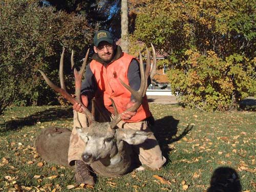
[[(83, 75), (83, 72), (84, 72), (84, 68), (86, 67), (86, 62), (87, 62), (87, 58), (88, 58), (88, 54), (89, 54), (89, 49), (87, 51), (87, 54), (86, 54), (86, 57), (84, 58), (83, 60), (83, 63), (82, 63), (82, 67), (80, 69), (79, 72), (77, 72), (76, 69), (74, 69), (74, 75), (75, 75), (75, 89), (76, 89), (76, 98), (75, 99), (74, 97), (72, 97), (67, 91), (66, 91), (66, 88), (65, 88), (65, 81), (64, 81), (64, 78), (63, 78), (63, 57), (64, 57), (64, 52), (65, 52), (65, 48), (63, 48), (62, 50), (62, 54), (61, 54), (61, 57), (60, 57), (60, 62), (59, 62), (59, 80), (60, 80), (60, 86), (61, 88), (55, 86), (55, 84), (46, 76), (46, 74), (40, 70), (38, 70), (42, 77), (44, 77), (45, 81), (47, 82), (47, 84), (56, 92), (58, 92), (60, 95), (62, 95), (65, 99), (67, 99), (69, 102), (71, 102), (72, 104), (75, 104), (75, 103), (79, 103), (81, 104), (81, 109), (82, 109), (82, 112), (84, 114), (86, 114), (87, 118), (89, 119), (89, 122), (90, 124), (92, 122), (94, 122), (94, 117), (93, 115), (91, 114), (91, 112), (86, 108), (86, 106), (84, 106), (81, 102), (81, 99), (80, 99), (80, 90), (81, 90), (81, 79), (82, 79), (82, 75)], [(74, 59), (73, 59), (73, 51), (72, 51), (72, 55), (71, 55), (71, 65), (72, 65), (72, 68), (74, 67)]]

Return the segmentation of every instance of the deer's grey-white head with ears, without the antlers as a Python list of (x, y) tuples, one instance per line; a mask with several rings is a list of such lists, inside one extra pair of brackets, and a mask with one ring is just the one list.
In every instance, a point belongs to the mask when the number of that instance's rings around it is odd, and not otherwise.
[(86, 128), (76, 127), (76, 131), (86, 143), (86, 148), (82, 153), (82, 160), (86, 163), (111, 159), (122, 151), (123, 141), (136, 145), (143, 143), (152, 135), (152, 132), (146, 133), (132, 129), (111, 129), (109, 122), (96, 122)]

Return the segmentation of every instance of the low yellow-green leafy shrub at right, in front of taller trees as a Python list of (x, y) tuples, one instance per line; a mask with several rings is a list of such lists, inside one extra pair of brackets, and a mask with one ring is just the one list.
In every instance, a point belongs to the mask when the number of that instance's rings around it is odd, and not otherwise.
[(223, 60), (214, 51), (205, 56), (196, 50), (187, 50), (185, 56), (187, 59), (168, 76), (172, 90), (188, 106), (206, 111), (230, 110), (256, 93), (256, 58), (248, 61), (245, 56), (233, 54)]

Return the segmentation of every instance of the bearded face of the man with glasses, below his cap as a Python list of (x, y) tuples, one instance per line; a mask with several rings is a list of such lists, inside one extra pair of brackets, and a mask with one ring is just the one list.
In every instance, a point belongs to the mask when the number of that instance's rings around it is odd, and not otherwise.
[(112, 61), (114, 57), (115, 45), (110, 44), (106, 41), (101, 41), (98, 47), (93, 47), (94, 52), (98, 54), (98, 56), (105, 62)]

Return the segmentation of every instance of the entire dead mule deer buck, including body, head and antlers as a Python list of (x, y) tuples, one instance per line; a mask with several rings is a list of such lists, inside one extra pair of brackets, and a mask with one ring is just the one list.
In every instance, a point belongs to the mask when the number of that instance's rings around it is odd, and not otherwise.
[[(143, 61), (141, 53), (139, 53), (139, 63), (141, 72), (141, 84), (138, 91), (133, 90), (125, 83), (122, 85), (131, 92), (135, 97), (136, 103), (131, 108), (126, 111), (135, 112), (142, 103), (142, 98), (146, 94), (147, 89), (147, 79), (153, 78), (156, 69), (156, 52), (153, 49), (153, 66), (151, 69), (151, 54), (148, 49), (146, 68), (143, 67)], [(115, 102), (111, 99), (112, 105), (115, 109), (115, 117), (111, 122), (97, 122), (93, 114), (82, 104), (80, 100), (80, 88), (81, 88), (81, 78), (84, 73), (88, 58), (89, 50), (83, 61), (82, 67), (79, 72), (74, 69), (75, 75), (75, 92), (76, 98), (72, 97), (65, 89), (65, 83), (63, 80), (63, 55), (64, 49), (60, 59), (60, 70), (59, 78), (61, 88), (55, 86), (44, 72), (40, 71), (48, 85), (54, 89), (56, 92), (60, 93), (64, 98), (66, 98), (72, 104), (81, 104), (82, 113), (87, 117), (89, 122), (89, 127), (82, 127), (82, 124), (86, 122), (86, 119), (81, 118), (80, 113), (74, 112), (74, 129), (76, 129), (79, 137), (86, 143), (86, 148), (84, 148), (81, 154), (82, 160), (90, 164), (93, 172), (102, 176), (121, 176), (126, 174), (131, 170), (132, 167), (132, 150), (131, 145), (143, 143), (152, 132), (136, 131), (132, 129), (117, 129), (117, 123), (121, 121), (121, 116), (118, 114)], [(71, 55), (72, 68), (74, 67), (73, 52)], [(42, 159), (47, 162), (52, 162), (56, 164), (62, 164), (69, 166), (68, 164), (68, 150), (70, 143), (71, 131), (68, 129), (61, 129), (58, 127), (50, 127), (45, 129), (37, 136), (35, 140), (35, 147), (38, 154)]]

